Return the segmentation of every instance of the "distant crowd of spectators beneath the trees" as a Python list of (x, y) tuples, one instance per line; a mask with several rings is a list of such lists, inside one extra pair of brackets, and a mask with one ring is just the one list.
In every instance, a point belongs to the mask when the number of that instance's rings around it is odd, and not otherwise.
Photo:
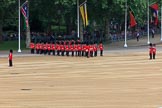
[[(152, 31), (157, 33), (157, 29), (150, 28), (150, 36), (152, 35)], [(31, 40), (36, 42), (54, 42), (56, 40), (77, 40), (77, 33), (76, 31), (72, 31), (70, 35), (66, 35), (65, 33), (44, 33), (44, 32), (31, 32)], [(127, 31), (127, 40), (129, 39), (141, 39), (142, 37), (147, 35), (147, 29), (136, 29), (135, 31)], [(21, 39), (25, 40), (25, 34), (21, 34)], [(18, 33), (17, 32), (8, 32), (3, 34), (3, 40), (17, 40), (18, 39)], [(93, 41), (93, 42), (100, 42), (105, 41), (105, 33), (102, 31), (94, 30), (94, 32), (83, 32), (83, 41)], [(117, 41), (124, 41), (125, 40), (125, 32), (110, 32), (108, 36), (108, 40), (110, 42), (117, 42)]]

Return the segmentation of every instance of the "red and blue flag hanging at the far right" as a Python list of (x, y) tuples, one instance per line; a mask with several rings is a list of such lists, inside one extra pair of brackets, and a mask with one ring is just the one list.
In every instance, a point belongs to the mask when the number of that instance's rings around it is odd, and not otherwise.
[(158, 25), (158, 3), (150, 5), (150, 8), (153, 10), (154, 24)]

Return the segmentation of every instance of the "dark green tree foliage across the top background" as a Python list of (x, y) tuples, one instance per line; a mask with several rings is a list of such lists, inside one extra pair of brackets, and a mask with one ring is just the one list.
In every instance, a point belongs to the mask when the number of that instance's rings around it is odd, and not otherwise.
[[(66, 27), (66, 33), (77, 30), (77, 0), (28, 0), (31, 31), (53, 32), (53, 27)], [(147, 20), (148, 0), (127, 0), (134, 11), (139, 26)], [(157, 0), (149, 0), (150, 4)], [(21, 4), (25, 0), (21, 0)], [(80, 3), (84, 0), (80, 0)], [(87, 0), (88, 18), (100, 29), (108, 29), (109, 23), (124, 23), (126, 0)], [(160, 3), (159, 3), (160, 4)], [(107, 26), (107, 28), (106, 28)], [(18, 0), (0, 0), (0, 40), (6, 30), (18, 28)], [(61, 30), (60, 30), (61, 31)]]

